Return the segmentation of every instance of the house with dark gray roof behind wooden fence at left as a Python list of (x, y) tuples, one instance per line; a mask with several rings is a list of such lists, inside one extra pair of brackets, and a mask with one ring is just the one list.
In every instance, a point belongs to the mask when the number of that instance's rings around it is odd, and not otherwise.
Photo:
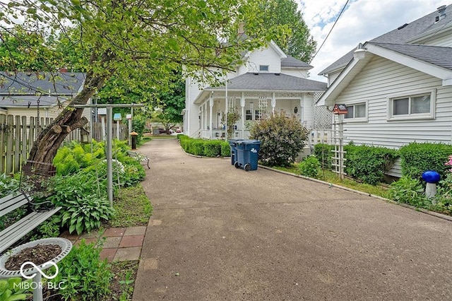
[[(83, 88), (85, 73), (0, 72), (0, 114), (55, 118)], [(90, 120), (90, 110), (83, 116)]]

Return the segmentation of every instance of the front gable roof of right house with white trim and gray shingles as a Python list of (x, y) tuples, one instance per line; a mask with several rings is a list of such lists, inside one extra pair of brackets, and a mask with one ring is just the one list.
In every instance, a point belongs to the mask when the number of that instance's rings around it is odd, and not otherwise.
[(333, 100), (342, 93), (374, 55), (440, 78), (443, 80), (443, 85), (452, 85), (451, 47), (368, 42), (361, 50), (364, 50), (362, 52), (364, 57), (354, 58), (347, 64), (319, 99), (317, 105), (332, 105)]

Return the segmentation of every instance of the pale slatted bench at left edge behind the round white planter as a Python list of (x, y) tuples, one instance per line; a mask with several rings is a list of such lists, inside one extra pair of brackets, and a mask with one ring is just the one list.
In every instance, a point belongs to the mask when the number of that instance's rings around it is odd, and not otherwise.
[[(28, 207), (31, 197), (17, 192), (4, 196), (0, 199), (0, 217), (16, 210), (20, 206)], [(57, 213), (61, 207), (53, 208), (49, 211), (36, 212), (24, 216), (13, 225), (0, 232), (0, 253), (4, 252), (12, 244), (24, 237), (28, 232), (35, 229), (40, 223)]]

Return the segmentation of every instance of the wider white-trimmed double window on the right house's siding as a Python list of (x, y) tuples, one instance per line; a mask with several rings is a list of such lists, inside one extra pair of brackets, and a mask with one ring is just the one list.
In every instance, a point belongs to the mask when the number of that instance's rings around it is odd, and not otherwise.
[(388, 120), (434, 118), (434, 90), (388, 98)]

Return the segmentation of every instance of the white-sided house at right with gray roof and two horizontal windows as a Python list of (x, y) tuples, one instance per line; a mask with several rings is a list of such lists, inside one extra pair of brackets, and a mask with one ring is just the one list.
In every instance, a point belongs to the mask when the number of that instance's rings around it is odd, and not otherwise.
[[(345, 104), (345, 143), (452, 141), (452, 5), (359, 45), (321, 72), (316, 105)], [(400, 177), (396, 163), (389, 175)]]

